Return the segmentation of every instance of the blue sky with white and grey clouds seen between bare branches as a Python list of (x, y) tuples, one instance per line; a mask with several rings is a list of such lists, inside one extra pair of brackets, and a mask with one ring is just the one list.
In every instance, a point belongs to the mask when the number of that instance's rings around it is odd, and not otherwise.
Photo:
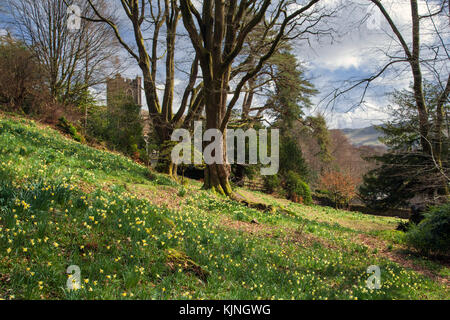
[[(420, 13), (427, 14), (428, 10), (434, 12), (441, 1), (420, 0)], [(383, 0), (382, 2), (409, 43), (411, 38), (410, 1)], [(322, 6), (325, 9), (338, 9), (332, 18), (317, 26), (322, 30), (331, 28), (333, 30), (331, 34), (322, 36), (320, 39), (310, 36), (308, 41), (303, 39), (293, 43), (294, 52), (298, 60), (306, 67), (308, 78), (320, 91), (320, 94), (314, 98), (315, 107), (309, 113), (324, 114), (330, 128), (361, 128), (378, 124), (389, 117), (385, 110), (388, 104), (386, 93), (409, 86), (412, 79), (408, 65), (399, 64), (395, 69), (388, 69), (371, 84), (362, 104), (360, 102), (363, 86), (355, 88), (336, 100), (331, 100), (329, 95), (336, 89), (348, 88), (354, 81), (377, 73), (388, 61), (386, 52), (399, 55), (399, 45), (378, 9), (370, 5), (368, 0), (323, 0)], [(121, 11), (121, 8), (116, 10), (119, 14)], [(123, 20), (121, 31), (124, 38), (130, 40), (132, 44), (132, 33), (127, 28), (123, 13), (121, 15)], [(436, 26), (448, 47), (450, 40), (448, 18), (435, 18), (434, 25), (431, 22), (429, 19), (422, 21), (422, 44), (428, 46), (438, 41)], [(182, 25), (181, 21), (180, 25)], [(179, 38), (177, 44), (181, 50), (178, 50), (176, 57), (178, 96), (174, 106), (179, 103), (179, 97), (188, 77), (183, 70), (189, 70), (190, 59), (193, 55), (189, 39)], [(430, 53), (425, 50), (422, 54), (426, 56)], [(400, 55), (403, 54), (400, 53)], [(123, 57), (127, 57), (127, 54), (124, 53)], [(128, 61), (130, 64), (125, 76), (139, 75), (140, 70), (135, 62), (130, 59)], [(446, 77), (450, 70), (449, 61), (444, 61), (439, 67), (440, 72)], [(427, 75), (427, 70), (424, 72)], [(163, 70), (160, 75), (162, 82)], [(431, 74), (427, 76), (429, 80), (433, 80)]]

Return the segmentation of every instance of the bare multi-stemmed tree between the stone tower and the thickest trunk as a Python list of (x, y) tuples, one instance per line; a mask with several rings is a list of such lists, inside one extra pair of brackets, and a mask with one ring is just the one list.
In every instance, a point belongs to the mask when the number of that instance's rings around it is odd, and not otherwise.
[[(167, 142), (170, 141), (173, 130), (189, 123), (203, 105), (203, 97), (199, 94), (202, 83), (197, 81), (198, 59), (194, 55), (191, 60), (191, 69), (187, 72), (189, 79), (182, 95), (181, 104), (176, 113), (173, 111), (175, 44), (178, 22), (181, 18), (180, 8), (175, 0), (120, 0), (120, 5), (134, 36), (134, 39), (130, 41), (123, 36), (125, 31), (121, 30), (114, 18), (103, 14), (95, 1), (87, 0), (87, 2), (96, 13), (96, 18), (85, 18), (109, 26), (114, 31), (118, 42), (141, 69), (150, 120), (161, 145), (160, 154), (167, 154), (166, 148), (170, 147)], [(165, 39), (163, 41), (164, 30)], [(161, 42), (165, 44), (162, 54), (160, 52)], [(165, 57), (164, 72), (159, 67), (162, 57)], [(158, 95), (158, 76), (164, 78), (162, 99)], [(164, 161), (164, 159), (161, 160)], [(169, 174), (176, 174), (176, 166), (170, 161), (168, 162), (168, 165), (162, 169)]]

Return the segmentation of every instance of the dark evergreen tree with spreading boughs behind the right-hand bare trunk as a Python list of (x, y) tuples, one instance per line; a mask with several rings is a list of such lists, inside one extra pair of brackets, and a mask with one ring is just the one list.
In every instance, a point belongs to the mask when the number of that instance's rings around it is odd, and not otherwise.
[[(445, 125), (437, 126), (439, 88), (426, 83), (424, 90), (431, 124), (428, 140), (430, 144), (442, 140), (442, 152), (439, 157), (422, 152), (414, 94), (410, 90), (395, 91), (392, 94), (392, 119), (378, 126), (384, 135), (382, 142), (389, 147), (389, 152), (372, 158), (379, 167), (364, 177), (364, 184), (360, 188), (361, 196), (369, 206), (405, 206), (413, 198), (425, 204), (448, 201), (448, 114), (444, 117)], [(449, 110), (448, 105), (444, 110)], [(436, 127), (442, 132), (438, 132)]]

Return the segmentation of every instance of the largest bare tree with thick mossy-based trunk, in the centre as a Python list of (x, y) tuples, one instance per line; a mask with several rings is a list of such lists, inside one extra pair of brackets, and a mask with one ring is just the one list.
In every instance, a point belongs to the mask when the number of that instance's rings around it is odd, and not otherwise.
[[(180, 0), (183, 23), (202, 69), (207, 129), (220, 129), (226, 137), (227, 124), (244, 86), (273, 56), (283, 38), (295, 29), (298, 18), (307, 13), (312, 15), (318, 2), (311, 0), (302, 6), (284, 0), (274, 4), (269, 0), (205, 0), (199, 11), (190, 0)], [(265, 36), (271, 32), (273, 40), (267, 43), (267, 52), (257, 58), (254, 67), (240, 77), (231, 91), (233, 64), (242, 52), (245, 40), (260, 23), (267, 26)], [(228, 102), (230, 91), (232, 97)], [(223, 146), (226, 159), (226, 143)], [(205, 188), (232, 195), (228, 179), (230, 169), (226, 161), (223, 162), (207, 166)]]

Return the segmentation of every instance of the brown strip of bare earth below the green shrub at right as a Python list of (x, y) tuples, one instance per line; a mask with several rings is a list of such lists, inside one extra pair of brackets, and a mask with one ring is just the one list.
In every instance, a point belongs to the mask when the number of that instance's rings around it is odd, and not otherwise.
[[(387, 258), (390, 261), (395, 262), (404, 268), (412, 269), (422, 275), (425, 275), (435, 281), (438, 281), (450, 287), (450, 280), (448, 278), (440, 276), (439, 274), (433, 272), (432, 270), (426, 268), (425, 266), (421, 266), (414, 263), (414, 261), (411, 259), (411, 255), (406, 253), (407, 252), (406, 247), (396, 246), (395, 248), (389, 250), (388, 242), (366, 234), (358, 235), (358, 242), (360, 242), (361, 244), (365, 245), (366, 247), (372, 250), (376, 249), (378, 255)], [(446, 267), (449, 266), (450, 264), (446, 265)]]

